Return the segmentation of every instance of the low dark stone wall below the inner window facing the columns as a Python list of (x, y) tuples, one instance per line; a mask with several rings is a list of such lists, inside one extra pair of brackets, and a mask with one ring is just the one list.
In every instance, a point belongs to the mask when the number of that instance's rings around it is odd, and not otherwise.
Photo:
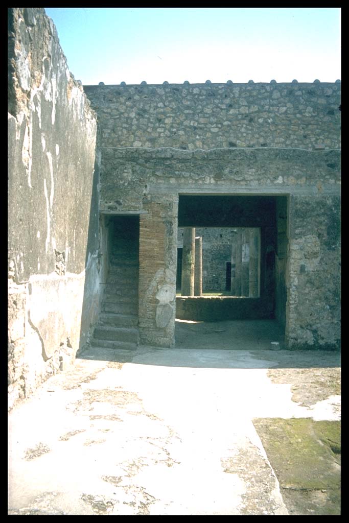
[(192, 321), (263, 320), (274, 317), (268, 298), (177, 297), (176, 318)]

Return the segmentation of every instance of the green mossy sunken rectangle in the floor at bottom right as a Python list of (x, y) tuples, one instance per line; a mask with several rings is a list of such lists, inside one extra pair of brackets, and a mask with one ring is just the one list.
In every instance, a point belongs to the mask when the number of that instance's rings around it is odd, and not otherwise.
[(253, 423), (290, 513), (339, 514), (340, 422), (258, 418)]

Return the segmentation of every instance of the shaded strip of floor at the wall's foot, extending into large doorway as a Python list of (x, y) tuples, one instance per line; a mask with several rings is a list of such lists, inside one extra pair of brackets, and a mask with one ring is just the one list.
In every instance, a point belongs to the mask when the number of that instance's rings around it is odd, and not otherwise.
[(91, 347), (80, 359), (188, 368), (340, 367), (340, 353), (324, 350), (273, 350), (283, 332), (275, 320), (184, 322), (176, 320), (176, 346), (139, 346), (137, 350)]

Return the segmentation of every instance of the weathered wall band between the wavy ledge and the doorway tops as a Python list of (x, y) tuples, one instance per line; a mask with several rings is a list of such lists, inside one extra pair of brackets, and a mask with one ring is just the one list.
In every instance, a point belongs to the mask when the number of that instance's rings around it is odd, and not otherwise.
[[(102, 142), (103, 145), (103, 142)], [(141, 210), (150, 194), (294, 194), (340, 190), (340, 151), (102, 149), (101, 209)]]

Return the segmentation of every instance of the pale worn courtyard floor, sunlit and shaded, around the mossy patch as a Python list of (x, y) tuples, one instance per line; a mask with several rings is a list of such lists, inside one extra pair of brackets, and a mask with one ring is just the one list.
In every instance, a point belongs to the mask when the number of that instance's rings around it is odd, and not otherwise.
[(8, 513), (291, 514), (253, 419), (339, 420), (340, 356), (280, 339), (177, 322), (172, 349), (88, 349), (9, 413)]

